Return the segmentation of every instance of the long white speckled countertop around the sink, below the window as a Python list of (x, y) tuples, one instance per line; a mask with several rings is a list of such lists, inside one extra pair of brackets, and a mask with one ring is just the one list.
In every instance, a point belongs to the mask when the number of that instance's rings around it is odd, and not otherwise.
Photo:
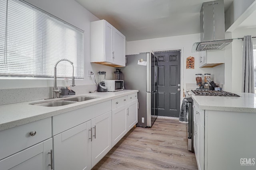
[[(40, 119), (44, 119), (47, 117), (52, 117), (54, 115), (58, 115), (61, 113), (66, 113), (68, 111), (80, 109), (82, 107), (91, 106), (94, 104), (112, 100), (114, 98), (126, 96), (136, 92), (138, 92), (138, 90), (122, 90), (118, 92), (104, 92), (104, 93), (95, 92), (95, 93), (80, 94), (76, 96), (97, 96), (98, 98), (87, 100), (84, 102), (68, 104), (64, 106), (57, 106), (57, 107), (44, 107), (44, 106), (30, 105), (31, 103), (35, 103), (35, 102), (44, 102), (44, 101), (50, 102), (52, 100), (36, 100), (36, 101), (30, 101), (30, 102), (1, 105), (0, 106), (0, 131), (11, 128), (11, 127), (16, 127), (19, 125), (30, 123), (33, 121), (37, 121)], [(72, 97), (69, 97), (69, 98), (72, 98)], [(54, 100), (60, 100), (60, 98), (54, 99)]]

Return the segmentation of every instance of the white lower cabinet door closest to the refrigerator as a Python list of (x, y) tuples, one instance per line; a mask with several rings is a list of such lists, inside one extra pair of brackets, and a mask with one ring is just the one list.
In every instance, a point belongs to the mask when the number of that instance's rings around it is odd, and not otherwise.
[(127, 131), (138, 123), (138, 100), (128, 103), (127, 110)]

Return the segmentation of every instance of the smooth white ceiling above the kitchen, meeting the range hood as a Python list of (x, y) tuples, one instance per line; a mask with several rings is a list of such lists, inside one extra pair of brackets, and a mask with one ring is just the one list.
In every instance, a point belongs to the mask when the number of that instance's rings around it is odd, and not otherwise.
[[(76, 0), (126, 36), (126, 41), (200, 33), (200, 9), (210, 0)], [(233, 0), (224, 0), (225, 10)]]

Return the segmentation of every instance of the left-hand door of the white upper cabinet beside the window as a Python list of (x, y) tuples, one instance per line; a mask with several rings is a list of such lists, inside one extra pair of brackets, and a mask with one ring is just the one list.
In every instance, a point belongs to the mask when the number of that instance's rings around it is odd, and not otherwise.
[(105, 39), (104, 39), (104, 45), (105, 45), (105, 61), (109, 63), (113, 63), (113, 28), (110, 23), (107, 21), (104, 21), (104, 27), (105, 27)]

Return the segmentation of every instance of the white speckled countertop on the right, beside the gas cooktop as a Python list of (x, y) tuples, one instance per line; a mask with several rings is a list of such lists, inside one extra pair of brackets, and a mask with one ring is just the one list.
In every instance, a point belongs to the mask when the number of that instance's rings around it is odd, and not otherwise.
[(200, 109), (256, 113), (256, 94), (236, 93), (240, 97), (192, 96)]

